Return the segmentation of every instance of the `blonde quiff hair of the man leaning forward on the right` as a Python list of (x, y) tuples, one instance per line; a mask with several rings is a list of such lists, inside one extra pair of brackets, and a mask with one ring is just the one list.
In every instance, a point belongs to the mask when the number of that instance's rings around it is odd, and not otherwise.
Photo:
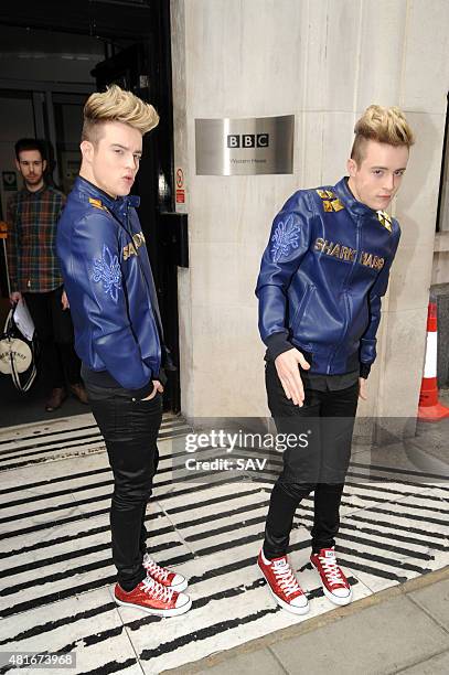
[(351, 159), (360, 164), (365, 159), (366, 141), (375, 140), (388, 146), (406, 146), (415, 142), (414, 133), (408, 126), (400, 108), (370, 106), (354, 127), (355, 139), (351, 150)]

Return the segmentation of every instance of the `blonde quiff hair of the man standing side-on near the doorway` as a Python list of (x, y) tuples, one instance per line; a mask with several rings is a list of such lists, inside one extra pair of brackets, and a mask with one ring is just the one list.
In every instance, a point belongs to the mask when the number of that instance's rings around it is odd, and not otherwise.
[(125, 92), (118, 85), (110, 85), (106, 92), (92, 94), (84, 106), (82, 140), (96, 142), (105, 122), (119, 121), (138, 129), (143, 136), (159, 124), (154, 108)]

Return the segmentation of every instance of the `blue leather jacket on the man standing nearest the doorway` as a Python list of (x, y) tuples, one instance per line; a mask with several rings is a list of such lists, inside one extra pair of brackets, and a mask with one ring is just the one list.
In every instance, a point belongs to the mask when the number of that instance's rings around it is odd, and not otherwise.
[(135, 206), (77, 178), (57, 225), (56, 250), (75, 328), (75, 349), (92, 371), (127, 389), (159, 374), (159, 309)]

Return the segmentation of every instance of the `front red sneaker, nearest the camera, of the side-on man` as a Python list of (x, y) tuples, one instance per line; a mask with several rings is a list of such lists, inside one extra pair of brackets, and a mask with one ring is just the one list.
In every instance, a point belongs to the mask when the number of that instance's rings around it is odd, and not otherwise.
[(140, 581), (129, 592), (124, 591), (121, 586), (117, 583), (114, 596), (117, 604), (135, 607), (158, 617), (177, 617), (189, 611), (192, 607), (192, 600), (189, 596), (177, 593), (173, 589), (158, 583), (151, 577)]

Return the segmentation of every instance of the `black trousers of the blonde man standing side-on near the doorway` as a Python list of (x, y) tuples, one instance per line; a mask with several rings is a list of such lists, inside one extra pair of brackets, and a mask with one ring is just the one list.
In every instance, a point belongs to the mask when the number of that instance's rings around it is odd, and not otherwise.
[(146, 577), (145, 516), (158, 469), (157, 438), (162, 421), (162, 396), (132, 400), (124, 388), (86, 383), (92, 411), (104, 436), (114, 474), (110, 505), (113, 561), (117, 581), (130, 591)]

